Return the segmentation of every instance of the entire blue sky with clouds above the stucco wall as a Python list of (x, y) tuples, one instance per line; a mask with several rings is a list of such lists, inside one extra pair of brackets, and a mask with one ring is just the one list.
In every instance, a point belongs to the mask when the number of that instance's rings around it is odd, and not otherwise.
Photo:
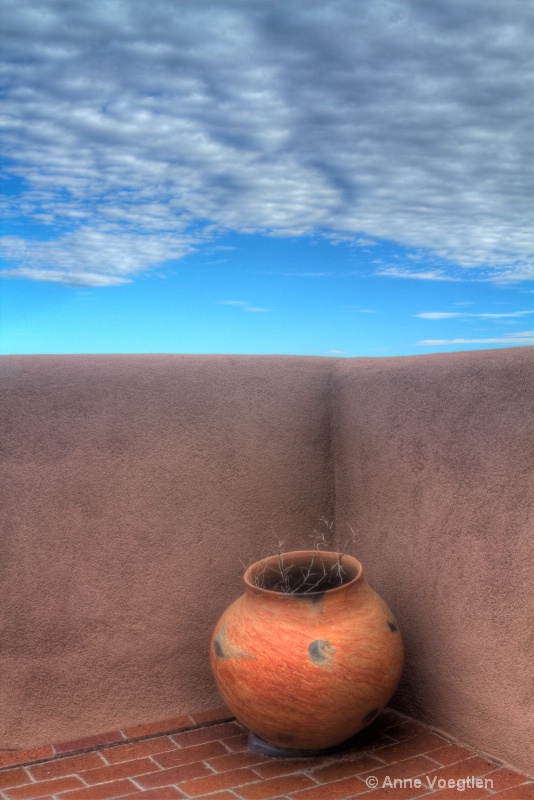
[(0, 353), (534, 344), (524, 0), (0, 16)]

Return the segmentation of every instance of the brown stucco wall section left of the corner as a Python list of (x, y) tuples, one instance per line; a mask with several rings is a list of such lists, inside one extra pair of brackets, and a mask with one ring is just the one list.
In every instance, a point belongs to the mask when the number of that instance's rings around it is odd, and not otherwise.
[(333, 517), (330, 366), (0, 359), (0, 749), (220, 704), (212, 629)]

